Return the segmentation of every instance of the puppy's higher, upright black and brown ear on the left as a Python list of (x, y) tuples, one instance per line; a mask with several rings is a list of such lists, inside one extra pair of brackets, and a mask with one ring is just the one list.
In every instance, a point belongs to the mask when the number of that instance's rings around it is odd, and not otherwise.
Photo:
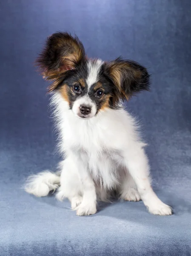
[(59, 77), (64, 77), (68, 70), (75, 70), (84, 59), (85, 50), (77, 37), (63, 32), (48, 37), (36, 62), (44, 79), (55, 80), (49, 87), (49, 92), (58, 86)]

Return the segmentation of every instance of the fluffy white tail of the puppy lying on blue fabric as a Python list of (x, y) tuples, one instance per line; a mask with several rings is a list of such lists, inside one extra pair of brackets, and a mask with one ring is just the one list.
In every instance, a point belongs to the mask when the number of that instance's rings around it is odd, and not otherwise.
[(55, 191), (60, 185), (59, 174), (50, 171), (40, 172), (37, 175), (31, 175), (26, 181), (24, 189), (26, 192), (40, 196), (46, 196), (53, 190)]

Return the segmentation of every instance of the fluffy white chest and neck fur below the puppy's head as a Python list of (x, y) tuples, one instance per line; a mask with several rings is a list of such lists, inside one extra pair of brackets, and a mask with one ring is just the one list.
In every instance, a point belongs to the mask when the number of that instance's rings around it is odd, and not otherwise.
[[(103, 186), (117, 183), (123, 151), (136, 140), (134, 119), (125, 110), (98, 113), (84, 120), (75, 116), (59, 94), (54, 94), (55, 117), (60, 133), (60, 151), (81, 157), (94, 180)], [(74, 157), (75, 157), (74, 156)]]

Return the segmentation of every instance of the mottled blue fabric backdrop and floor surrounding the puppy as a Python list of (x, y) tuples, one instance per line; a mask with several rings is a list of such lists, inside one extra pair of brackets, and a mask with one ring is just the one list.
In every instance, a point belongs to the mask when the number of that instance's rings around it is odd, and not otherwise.
[[(149, 68), (151, 92), (127, 107), (149, 144), (154, 190), (174, 215), (150, 215), (140, 201), (77, 217), (68, 201), (20, 189), (59, 160), (48, 84), (33, 66), (57, 30), (75, 32), (89, 57), (123, 55)], [(0, 255), (191, 255), (190, 0), (0, 2)]]

